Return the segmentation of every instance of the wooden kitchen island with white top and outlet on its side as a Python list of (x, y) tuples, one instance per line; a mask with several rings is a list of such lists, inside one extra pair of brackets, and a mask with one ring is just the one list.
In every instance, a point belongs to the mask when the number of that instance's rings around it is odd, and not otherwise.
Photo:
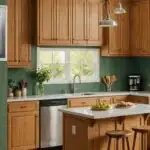
[[(90, 107), (61, 109), (63, 112), (63, 150), (107, 150), (110, 130), (132, 130), (147, 124), (150, 105), (137, 104), (126, 109), (113, 108), (107, 111), (92, 111)], [(133, 135), (129, 137), (130, 147)], [(142, 147), (142, 142), (144, 142)], [(123, 142), (124, 143), (124, 142)], [(119, 141), (122, 150), (122, 141)], [(112, 142), (111, 150), (115, 150)], [(125, 146), (125, 150), (126, 150)], [(147, 150), (147, 136), (138, 135), (136, 150)]]

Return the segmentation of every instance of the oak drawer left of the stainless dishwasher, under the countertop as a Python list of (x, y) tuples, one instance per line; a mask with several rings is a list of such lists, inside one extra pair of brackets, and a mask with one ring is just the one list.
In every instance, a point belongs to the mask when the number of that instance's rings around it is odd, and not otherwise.
[(10, 102), (8, 112), (24, 112), (38, 110), (39, 102)]

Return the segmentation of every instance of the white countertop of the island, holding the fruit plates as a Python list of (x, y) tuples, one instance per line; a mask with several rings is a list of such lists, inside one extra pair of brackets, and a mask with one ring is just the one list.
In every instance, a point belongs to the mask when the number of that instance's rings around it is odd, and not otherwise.
[(140, 115), (150, 113), (150, 105), (148, 104), (136, 104), (135, 107), (118, 109), (113, 108), (107, 111), (92, 111), (90, 107), (82, 108), (66, 108), (60, 109), (61, 112), (86, 117), (90, 119), (103, 119), (103, 118), (113, 118), (120, 116), (130, 116), (130, 115)]

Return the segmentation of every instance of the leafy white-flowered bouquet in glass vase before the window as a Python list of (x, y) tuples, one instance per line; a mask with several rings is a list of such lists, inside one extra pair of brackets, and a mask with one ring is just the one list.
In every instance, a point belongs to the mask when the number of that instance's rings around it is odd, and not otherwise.
[(42, 67), (34, 70), (36, 81), (38, 83), (38, 93), (44, 94), (44, 82), (48, 82), (52, 77), (52, 70), (50, 67)]

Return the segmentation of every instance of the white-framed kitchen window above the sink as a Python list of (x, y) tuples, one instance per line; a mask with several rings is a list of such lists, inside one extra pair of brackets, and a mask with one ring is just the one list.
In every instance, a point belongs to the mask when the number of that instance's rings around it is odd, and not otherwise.
[(37, 68), (52, 70), (48, 84), (72, 83), (75, 74), (82, 82), (99, 82), (99, 59), (96, 48), (37, 48)]

